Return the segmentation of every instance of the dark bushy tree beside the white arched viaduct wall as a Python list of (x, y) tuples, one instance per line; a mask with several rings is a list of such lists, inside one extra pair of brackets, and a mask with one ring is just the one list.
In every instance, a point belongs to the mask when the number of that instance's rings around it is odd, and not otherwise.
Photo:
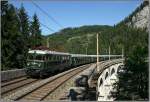
[(118, 75), (115, 92), (116, 100), (148, 100), (148, 49), (136, 45), (125, 60), (124, 72)]

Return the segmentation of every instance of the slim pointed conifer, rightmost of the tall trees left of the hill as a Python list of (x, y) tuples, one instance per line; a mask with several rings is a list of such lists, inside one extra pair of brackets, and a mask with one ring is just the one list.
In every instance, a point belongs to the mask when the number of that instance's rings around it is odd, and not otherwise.
[(31, 47), (37, 47), (42, 45), (40, 22), (36, 14), (34, 14), (33, 16), (33, 21), (31, 22), (30, 31), (31, 31)]

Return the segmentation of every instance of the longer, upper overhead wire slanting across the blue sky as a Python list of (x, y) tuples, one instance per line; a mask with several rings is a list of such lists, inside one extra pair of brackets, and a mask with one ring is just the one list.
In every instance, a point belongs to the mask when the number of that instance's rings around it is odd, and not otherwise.
[(37, 7), (39, 8), (45, 15), (47, 15), (53, 22), (55, 22), (58, 26), (60, 26), (61, 28), (63, 28), (63, 26), (57, 22), (54, 17), (52, 17), (51, 15), (49, 15), (46, 11), (44, 11), (39, 5), (37, 5), (33, 0), (31, 0), (31, 2)]

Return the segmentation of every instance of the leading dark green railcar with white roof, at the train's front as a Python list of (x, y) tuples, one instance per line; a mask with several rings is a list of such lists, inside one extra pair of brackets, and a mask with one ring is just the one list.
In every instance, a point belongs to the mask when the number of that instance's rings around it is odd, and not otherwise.
[(71, 66), (69, 53), (30, 50), (26, 73), (31, 77), (45, 77), (67, 70)]

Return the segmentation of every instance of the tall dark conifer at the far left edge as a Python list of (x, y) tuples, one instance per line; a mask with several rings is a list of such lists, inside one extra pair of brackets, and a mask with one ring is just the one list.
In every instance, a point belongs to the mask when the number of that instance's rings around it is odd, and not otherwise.
[(2, 70), (4, 68), (21, 68), (21, 33), (16, 8), (2, 1)]

